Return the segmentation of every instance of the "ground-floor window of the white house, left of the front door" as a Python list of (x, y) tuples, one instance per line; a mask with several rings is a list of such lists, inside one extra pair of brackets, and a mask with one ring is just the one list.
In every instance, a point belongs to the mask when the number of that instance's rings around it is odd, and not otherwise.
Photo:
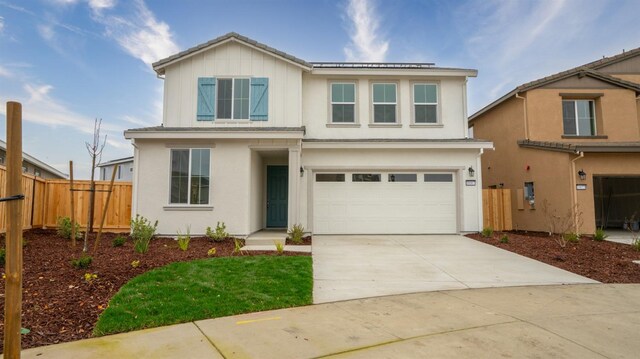
[(171, 150), (171, 204), (209, 204), (209, 149)]

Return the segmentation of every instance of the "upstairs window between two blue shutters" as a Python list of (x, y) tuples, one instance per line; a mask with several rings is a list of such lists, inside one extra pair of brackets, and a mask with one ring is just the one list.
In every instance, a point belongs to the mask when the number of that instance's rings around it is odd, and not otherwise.
[(248, 120), (249, 86), (249, 79), (218, 79), (216, 118)]

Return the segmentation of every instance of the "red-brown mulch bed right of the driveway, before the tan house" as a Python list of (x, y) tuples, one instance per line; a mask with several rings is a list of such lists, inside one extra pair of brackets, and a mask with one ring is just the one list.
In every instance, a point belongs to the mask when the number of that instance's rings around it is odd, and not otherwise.
[[(509, 243), (500, 243), (505, 234), (509, 236)], [(640, 283), (640, 265), (632, 262), (640, 260), (640, 252), (628, 244), (582, 237), (579, 242), (567, 243), (563, 248), (556, 241), (557, 235), (540, 232), (495, 232), (490, 238), (474, 233), (467, 237), (599, 282)]]

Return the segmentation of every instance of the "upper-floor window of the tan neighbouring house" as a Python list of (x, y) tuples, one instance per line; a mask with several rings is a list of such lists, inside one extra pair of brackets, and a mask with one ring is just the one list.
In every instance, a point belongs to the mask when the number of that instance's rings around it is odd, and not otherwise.
[(596, 118), (593, 100), (563, 100), (562, 124), (569, 136), (595, 136)]

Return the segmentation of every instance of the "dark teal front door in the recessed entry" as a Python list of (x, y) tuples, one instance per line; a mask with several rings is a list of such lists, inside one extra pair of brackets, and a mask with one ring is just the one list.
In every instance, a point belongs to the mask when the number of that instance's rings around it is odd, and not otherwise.
[(287, 228), (289, 168), (267, 166), (267, 227)]

